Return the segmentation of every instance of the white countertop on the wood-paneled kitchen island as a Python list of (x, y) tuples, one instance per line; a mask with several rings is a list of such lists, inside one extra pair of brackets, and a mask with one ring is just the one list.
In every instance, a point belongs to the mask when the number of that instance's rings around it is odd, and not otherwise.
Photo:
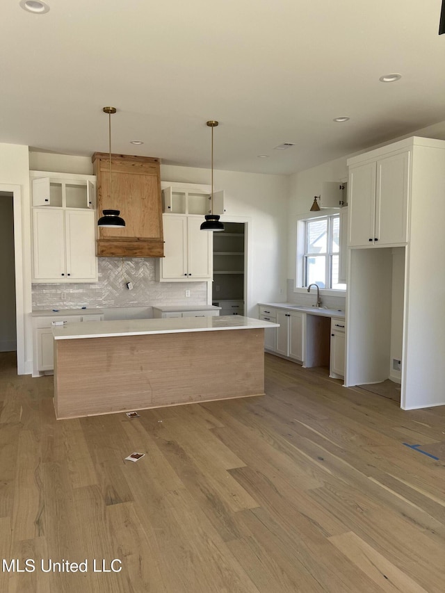
[(167, 319), (127, 319), (69, 323), (53, 327), (55, 340), (142, 336), (148, 334), (177, 334), (186, 332), (214, 332), (220, 330), (252, 330), (279, 327), (260, 319), (241, 315), (214, 317), (172, 317)]

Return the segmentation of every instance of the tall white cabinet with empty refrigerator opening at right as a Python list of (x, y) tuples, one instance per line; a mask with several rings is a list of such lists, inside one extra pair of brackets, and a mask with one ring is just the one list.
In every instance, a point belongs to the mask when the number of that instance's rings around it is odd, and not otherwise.
[(348, 159), (346, 387), (391, 378), (401, 407), (445, 405), (445, 141)]

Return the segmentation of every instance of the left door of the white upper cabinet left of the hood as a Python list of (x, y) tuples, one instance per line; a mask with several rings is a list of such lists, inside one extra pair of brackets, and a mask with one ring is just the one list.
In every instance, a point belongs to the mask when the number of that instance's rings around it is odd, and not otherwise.
[(65, 276), (63, 210), (33, 209), (33, 279), (57, 280)]

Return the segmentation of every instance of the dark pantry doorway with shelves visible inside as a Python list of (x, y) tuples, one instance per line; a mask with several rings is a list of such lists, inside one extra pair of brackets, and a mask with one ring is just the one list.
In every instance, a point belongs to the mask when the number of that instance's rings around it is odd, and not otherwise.
[(245, 222), (224, 222), (224, 231), (213, 234), (212, 304), (220, 315), (246, 311)]

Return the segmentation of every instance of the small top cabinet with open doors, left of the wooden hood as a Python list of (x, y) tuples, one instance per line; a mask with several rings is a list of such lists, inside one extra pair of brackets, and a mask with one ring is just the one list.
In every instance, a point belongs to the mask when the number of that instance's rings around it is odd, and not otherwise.
[(65, 179), (56, 173), (32, 171), (31, 188), (33, 206), (95, 208), (96, 181), (92, 175)]

